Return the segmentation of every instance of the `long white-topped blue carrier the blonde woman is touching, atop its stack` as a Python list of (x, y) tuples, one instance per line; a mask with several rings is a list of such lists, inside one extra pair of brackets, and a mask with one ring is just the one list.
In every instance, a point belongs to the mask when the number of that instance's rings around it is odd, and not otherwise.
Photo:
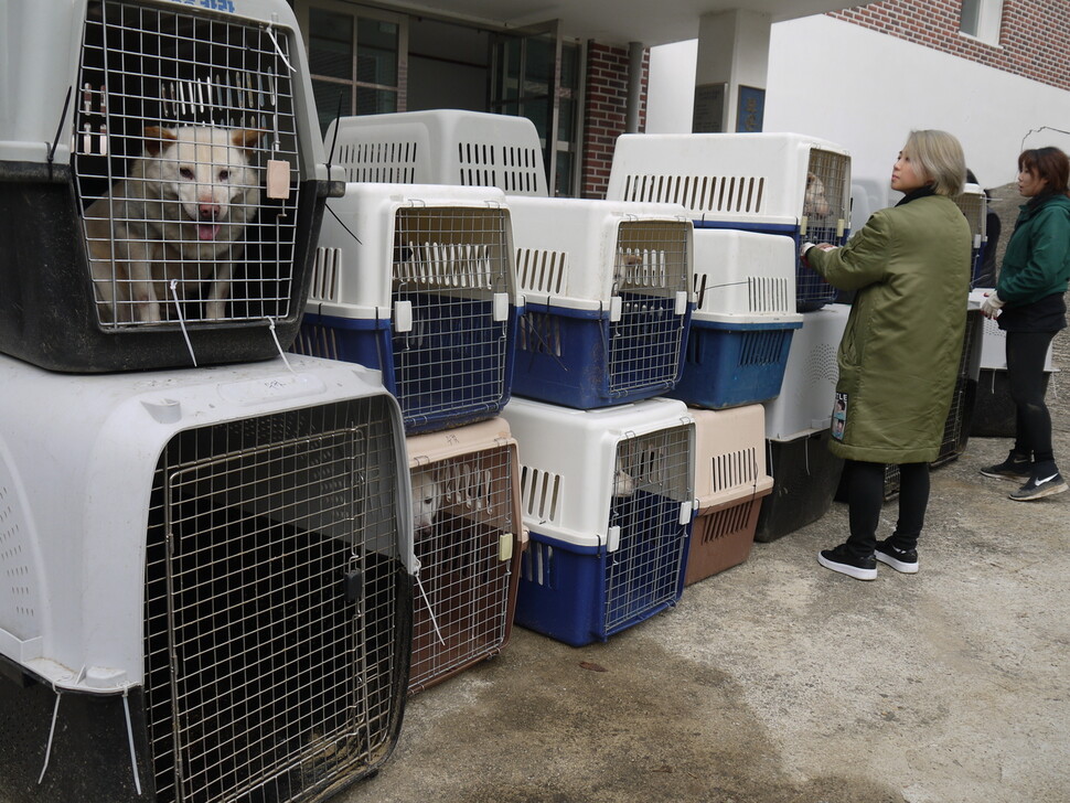
[[(683, 204), (695, 227), (746, 228), (803, 242), (847, 242), (850, 157), (799, 133), (624, 135), (607, 197)], [(836, 290), (795, 256), (800, 312)]]

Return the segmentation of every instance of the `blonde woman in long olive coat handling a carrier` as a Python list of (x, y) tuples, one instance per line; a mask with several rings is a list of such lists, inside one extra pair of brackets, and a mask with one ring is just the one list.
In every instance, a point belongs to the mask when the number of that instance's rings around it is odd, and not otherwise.
[[(831, 285), (856, 290), (837, 361), (832, 451), (844, 458), (850, 535), (822, 566), (877, 577), (877, 561), (918, 570), (918, 536), (957, 378), (970, 293), (970, 224), (952, 196), (966, 163), (945, 131), (913, 131), (892, 168), (906, 193), (876, 212), (842, 248), (802, 246)], [(899, 520), (877, 540), (885, 467), (899, 467)]]

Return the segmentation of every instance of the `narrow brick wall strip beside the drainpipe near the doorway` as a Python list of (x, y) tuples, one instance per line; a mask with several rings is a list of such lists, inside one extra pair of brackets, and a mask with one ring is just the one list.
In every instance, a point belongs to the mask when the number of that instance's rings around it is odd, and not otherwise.
[[(646, 129), (650, 51), (643, 55), (639, 130)], [(584, 160), (580, 197), (603, 199), (617, 138), (628, 122), (628, 47), (587, 43), (587, 99), (584, 108)]]

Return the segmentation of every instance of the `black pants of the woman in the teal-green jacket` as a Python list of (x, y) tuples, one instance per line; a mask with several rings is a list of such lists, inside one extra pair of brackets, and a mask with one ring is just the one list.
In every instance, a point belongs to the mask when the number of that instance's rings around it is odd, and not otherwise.
[(1051, 414), (1044, 403), (1044, 361), (1055, 332), (1007, 332), (1007, 385), (1017, 410), (1014, 450), (1038, 463), (1055, 460)]

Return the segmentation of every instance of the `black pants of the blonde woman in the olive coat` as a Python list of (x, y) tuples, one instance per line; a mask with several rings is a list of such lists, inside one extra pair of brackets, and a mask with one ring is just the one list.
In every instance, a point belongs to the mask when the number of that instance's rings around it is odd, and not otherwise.
[[(848, 460), (847, 506), (850, 537), (847, 547), (858, 557), (873, 555), (877, 545), (877, 526), (880, 508), (885, 502), (884, 463), (865, 463)], [(925, 523), (929, 507), (929, 463), (902, 463), (899, 465), (899, 521), (891, 534), (891, 545), (897, 549), (914, 549), (918, 536)]]

